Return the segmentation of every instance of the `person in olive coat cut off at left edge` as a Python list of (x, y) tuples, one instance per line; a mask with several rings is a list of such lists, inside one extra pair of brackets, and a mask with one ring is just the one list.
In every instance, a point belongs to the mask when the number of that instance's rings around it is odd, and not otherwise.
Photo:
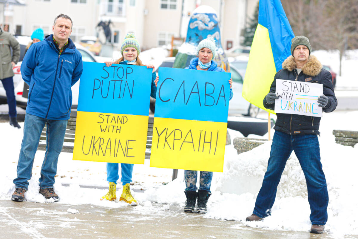
[[(11, 56), (11, 49), (13, 55)], [(0, 27), (0, 80), (3, 83), (9, 105), (10, 125), (20, 129), (16, 119), (16, 99), (13, 81), (13, 67), (20, 58), (20, 45), (13, 35)]]

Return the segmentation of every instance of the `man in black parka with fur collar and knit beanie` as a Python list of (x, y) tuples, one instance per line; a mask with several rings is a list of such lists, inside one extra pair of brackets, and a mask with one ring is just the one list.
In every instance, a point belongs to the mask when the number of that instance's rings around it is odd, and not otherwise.
[[(322, 68), (321, 63), (311, 54), (309, 39), (297, 36), (292, 39), (292, 56), (282, 63), (271, 84), (270, 92), (263, 99), (267, 109), (275, 109), (276, 79), (303, 81), (323, 84), (323, 95), (318, 98), (318, 106), (323, 111), (332, 112), (337, 106), (334, 95), (332, 75)], [(323, 233), (327, 222), (328, 190), (322, 170), (318, 136), (320, 117), (279, 114), (275, 124), (271, 152), (267, 171), (258, 192), (253, 214), (246, 221), (259, 221), (271, 215), (277, 185), (280, 182), (286, 161), (294, 150), (306, 178), (308, 202), (310, 204), (312, 223), (311, 233)]]

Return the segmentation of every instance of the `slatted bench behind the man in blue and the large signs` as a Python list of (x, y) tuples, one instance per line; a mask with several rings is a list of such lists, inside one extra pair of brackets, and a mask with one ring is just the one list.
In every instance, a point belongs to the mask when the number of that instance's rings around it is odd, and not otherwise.
[[(74, 132), (76, 130), (76, 117), (77, 117), (77, 111), (72, 110), (71, 116), (67, 123), (66, 134), (65, 134), (61, 152), (73, 153)], [(153, 123), (154, 123), (154, 117), (149, 116), (145, 159), (150, 159), (150, 151), (151, 151), (152, 138), (153, 138)], [(46, 150), (46, 125), (42, 130), (40, 136), (40, 142), (37, 150), (44, 150), (44, 151)], [(174, 180), (177, 177), (178, 177), (178, 169), (173, 169), (172, 180)]]

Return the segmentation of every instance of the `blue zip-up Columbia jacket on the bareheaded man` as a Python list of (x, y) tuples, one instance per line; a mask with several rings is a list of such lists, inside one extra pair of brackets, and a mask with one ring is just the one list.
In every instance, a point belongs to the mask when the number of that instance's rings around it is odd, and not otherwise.
[(52, 37), (32, 44), (21, 64), (21, 76), (30, 86), (26, 113), (66, 120), (71, 113), (71, 86), (82, 74), (82, 55), (71, 39), (59, 55)]

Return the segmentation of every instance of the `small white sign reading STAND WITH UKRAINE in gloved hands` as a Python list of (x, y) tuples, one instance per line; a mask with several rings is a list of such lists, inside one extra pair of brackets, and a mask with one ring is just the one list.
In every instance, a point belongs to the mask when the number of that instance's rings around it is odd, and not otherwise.
[(276, 79), (275, 113), (322, 117), (318, 97), (323, 95), (323, 85), (303, 81)]

